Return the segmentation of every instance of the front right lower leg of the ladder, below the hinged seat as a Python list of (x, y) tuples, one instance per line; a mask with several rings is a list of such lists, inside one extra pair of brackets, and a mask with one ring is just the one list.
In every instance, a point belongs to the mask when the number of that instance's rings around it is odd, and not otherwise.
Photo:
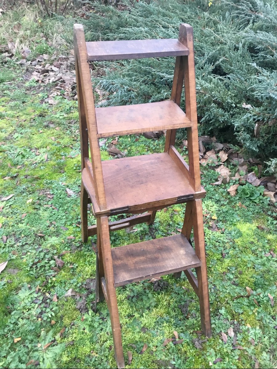
[(194, 230), (195, 254), (201, 260), (202, 265), (195, 268), (198, 281), (198, 297), (200, 304), (201, 328), (207, 338), (212, 336), (211, 316), (209, 303), (208, 277), (205, 255), (204, 226), (202, 201), (192, 201), (192, 218)]

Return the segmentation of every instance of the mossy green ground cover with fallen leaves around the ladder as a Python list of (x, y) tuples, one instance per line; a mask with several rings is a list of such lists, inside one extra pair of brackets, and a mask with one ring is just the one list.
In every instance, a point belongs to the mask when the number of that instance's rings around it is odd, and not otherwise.
[[(29, 24), (26, 39), (33, 40), (28, 44), (33, 53), (30, 60), (56, 49), (66, 54), (64, 41), (59, 43), (62, 38), (56, 37), (52, 45), (45, 42), (42, 48), (36, 41), (34, 12), (21, 12), (22, 27), (27, 29)], [(5, 16), (12, 17), (8, 12)], [(2, 24), (6, 41), (19, 16), (13, 22), (11, 30)], [(71, 18), (42, 23), (45, 34), (50, 29), (58, 34), (68, 27), (68, 39), (72, 35)], [(0, 263), (8, 263), (0, 276), (0, 367), (115, 368), (106, 303), (99, 303), (98, 313), (92, 311), (95, 254), (91, 241), (81, 242), (74, 93), (68, 97), (59, 90), (52, 97), (55, 104), (49, 104), (46, 99), (56, 91), (57, 82), (45, 85), (26, 79), (28, 68), (15, 64), (16, 60), (1, 60)], [(103, 159), (113, 159), (107, 152), (112, 140), (101, 147)], [(133, 156), (160, 152), (163, 145), (163, 137), (149, 140), (131, 135), (120, 137), (117, 147)], [(179, 150), (186, 158), (186, 149)], [(235, 175), (237, 165), (228, 162), (226, 166)], [(119, 287), (126, 363), (127, 351), (132, 353), (128, 368), (276, 368), (273, 206), (263, 196), (255, 201), (240, 193), (231, 197), (227, 190), (238, 183), (235, 179), (213, 186), (218, 178), (214, 169), (201, 167), (207, 191), (203, 206), (213, 336), (206, 341), (199, 333), (198, 301), (184, 275)], [(150, 227), (141, 224), (113, 232), (112, 245), (178, 233), (184, 210), (184, 205), (168, 207), (158, 211)], [(66, 297), (70, 289), (72, 296)], [(182, 343), (163, 346), (174, 331)], [(144, 344), (147, 349), (140, 354)]]

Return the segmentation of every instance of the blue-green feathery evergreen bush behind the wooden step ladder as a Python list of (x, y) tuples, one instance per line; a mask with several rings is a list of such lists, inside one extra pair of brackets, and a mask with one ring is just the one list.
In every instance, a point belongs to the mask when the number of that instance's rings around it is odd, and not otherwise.
[[(97, 12), (84, 20), (86, 38), (176, 38), (180, 23), (191, 24), (200, 134), (215, 135), (221, 142), (238, 145), (245, 154), (263, 161), (272, 159), (274, 170), (277, 3), (208, 3), (140, 0), (126, 3), (120, 10), (96, 3)], [(173, 58), (98, 62), (94, 82), (109, 92), (103, 103), (106, 106), (161, 101), (170, 98), (173, 70)]]

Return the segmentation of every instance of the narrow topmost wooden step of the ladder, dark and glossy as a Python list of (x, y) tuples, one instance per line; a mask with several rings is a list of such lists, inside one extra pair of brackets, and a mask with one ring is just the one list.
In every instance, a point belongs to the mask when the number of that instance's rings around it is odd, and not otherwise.
[(86, 42), (89, 61), (157, 58), (188, 55), (177, 38)]

